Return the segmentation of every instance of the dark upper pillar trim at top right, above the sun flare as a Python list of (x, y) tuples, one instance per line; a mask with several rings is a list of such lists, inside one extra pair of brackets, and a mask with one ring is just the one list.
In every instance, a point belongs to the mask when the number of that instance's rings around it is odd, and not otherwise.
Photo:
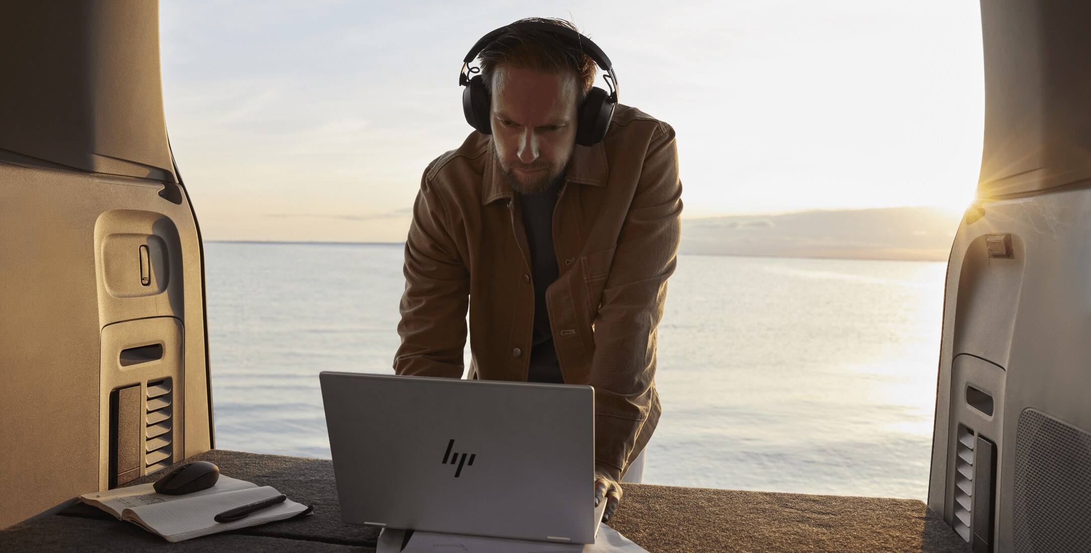
[(1091, 179), (1091, 40), (1083, 0), (982, 0), (985, 134), (978, 196)]

